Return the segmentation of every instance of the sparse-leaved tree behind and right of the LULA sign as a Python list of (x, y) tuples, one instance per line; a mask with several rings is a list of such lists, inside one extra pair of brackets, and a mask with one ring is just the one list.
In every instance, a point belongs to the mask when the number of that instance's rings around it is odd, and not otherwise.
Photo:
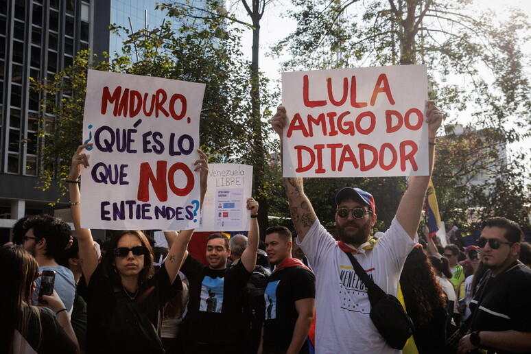
[[(467, 110), (485, 136), (464, 134), (438, 145), (434, 184), (445, 217), (466, 220), (467, 181), (489, 172), (493, 150), (531, 132), (529, 76), (521, 45), (530, 25), (521, 10), (497, 22), (468, 0), (292, 0), (287, 16), (297, 28), (274, 47), (290, 54), (285, 69), (333, 69), (426, 64), (432, 90), (445, 110)], [(452, 78), (462, 83), (451, 84)], [(453, 81), (455, 82), (455, 80)], [(456, 123), (450, 117), (449, 123)], [(449, 126), (451, 128), (451, 126)], [(386, 182), (405, 185), (403, 178)], [(394, 202), (401, 191), (384, 196)], [(377, 201), (377, 205), (382, 202)]]

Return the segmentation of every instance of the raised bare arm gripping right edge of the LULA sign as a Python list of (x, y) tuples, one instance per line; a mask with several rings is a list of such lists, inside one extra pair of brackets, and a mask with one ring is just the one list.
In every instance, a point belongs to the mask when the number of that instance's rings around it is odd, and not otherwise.
[(426, 123), (428, 124), (429, 141), (429, 171), (427, 176), (411, 176), (408, 190), (399, 204), (397, 210), (397, 220), (410, 235), (415, 238), (418, 224), (421, 222), (421, 212), (424, 204), (429, 178), (432, 176), (434, 167), (435, 135), (440, 123), (443, 121), (443, 113), (435, 106), (435, 102), (426, 102)]

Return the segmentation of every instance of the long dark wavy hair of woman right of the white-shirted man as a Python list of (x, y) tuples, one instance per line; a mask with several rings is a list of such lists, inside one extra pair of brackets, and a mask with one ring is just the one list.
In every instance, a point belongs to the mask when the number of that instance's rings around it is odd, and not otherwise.
[(446, 307), (445, 293), (422, 247), (413, 248), (405, 259), (400, 287), (405, 308), (416, 327), (421, 327), (438, 309)]

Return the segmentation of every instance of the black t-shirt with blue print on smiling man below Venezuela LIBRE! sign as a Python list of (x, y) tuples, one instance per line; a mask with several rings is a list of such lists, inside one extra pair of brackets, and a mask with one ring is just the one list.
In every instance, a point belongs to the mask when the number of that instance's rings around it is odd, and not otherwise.
[(232, 343), (234, 333), (246, 333), (241, 293), (250, 273), (241, 261), (231, 268), (213, 270), (189, 255), (181, 272), (190, 283), (188, 313), (182, 322), (185, 340)]

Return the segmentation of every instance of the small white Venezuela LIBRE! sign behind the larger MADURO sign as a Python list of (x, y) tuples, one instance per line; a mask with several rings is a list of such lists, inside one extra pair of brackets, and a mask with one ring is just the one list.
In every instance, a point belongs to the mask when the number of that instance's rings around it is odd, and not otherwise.
[(247, 198), (252, 192), (252, 166), (209, 164), (200, 231), (249, 231)]

